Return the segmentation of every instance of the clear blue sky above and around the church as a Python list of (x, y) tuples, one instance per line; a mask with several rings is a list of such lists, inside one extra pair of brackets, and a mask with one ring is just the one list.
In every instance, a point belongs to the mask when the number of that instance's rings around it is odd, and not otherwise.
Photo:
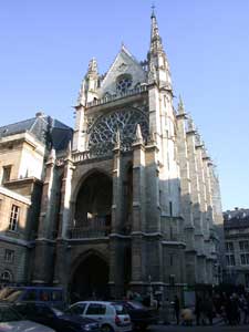
[[(174, 92), (218, 166), (222, 207), (249, 208), (249, 1), (155, 0)], [(89, 60), (100, 72), (124, 42), (144, 60), (148, 0), (11, 0), (0, 4), (0, 126), (42, 110), (73, 126)]]

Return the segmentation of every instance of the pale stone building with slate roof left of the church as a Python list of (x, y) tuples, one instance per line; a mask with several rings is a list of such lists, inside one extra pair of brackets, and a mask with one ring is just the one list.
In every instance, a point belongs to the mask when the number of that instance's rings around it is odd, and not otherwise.
[(51, 145), (63, 154), (71, 137), (42, 113), (0, 127), (0, 286), (31, 282), (45, 162)]

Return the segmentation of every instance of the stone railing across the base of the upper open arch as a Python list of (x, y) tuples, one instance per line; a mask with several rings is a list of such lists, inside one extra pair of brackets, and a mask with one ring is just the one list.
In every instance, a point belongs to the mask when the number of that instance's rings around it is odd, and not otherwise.
[[(108, 220), (110, 221), (110, 220)], [(87, 239), (87, 238), (103, 238), (111, 232), (111, 224), (107, 222), (107, 217), (96, 217), (87, 220), (86, 226), (71, 227), (69, 229), (69, 238), (71, 239)]]

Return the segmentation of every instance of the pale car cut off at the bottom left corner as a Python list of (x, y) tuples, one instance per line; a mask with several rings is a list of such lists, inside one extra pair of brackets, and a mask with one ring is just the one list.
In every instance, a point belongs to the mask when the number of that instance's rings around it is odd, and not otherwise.
[(23, 320), (10, 304), (0, 303), (0, 331), (1, 332), (54, 332), (54, 330)]

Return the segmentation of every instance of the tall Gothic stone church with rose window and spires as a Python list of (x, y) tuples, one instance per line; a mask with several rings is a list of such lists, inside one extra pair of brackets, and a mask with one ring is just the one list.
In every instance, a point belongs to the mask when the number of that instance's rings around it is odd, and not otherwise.
[(147, 59), (122, 45), (106, 74), (92, 59), (73, 142), (45, 164), (32, 282), (81, 298), (216, 284), (215, 167), (179, 98), (152, 13)]

